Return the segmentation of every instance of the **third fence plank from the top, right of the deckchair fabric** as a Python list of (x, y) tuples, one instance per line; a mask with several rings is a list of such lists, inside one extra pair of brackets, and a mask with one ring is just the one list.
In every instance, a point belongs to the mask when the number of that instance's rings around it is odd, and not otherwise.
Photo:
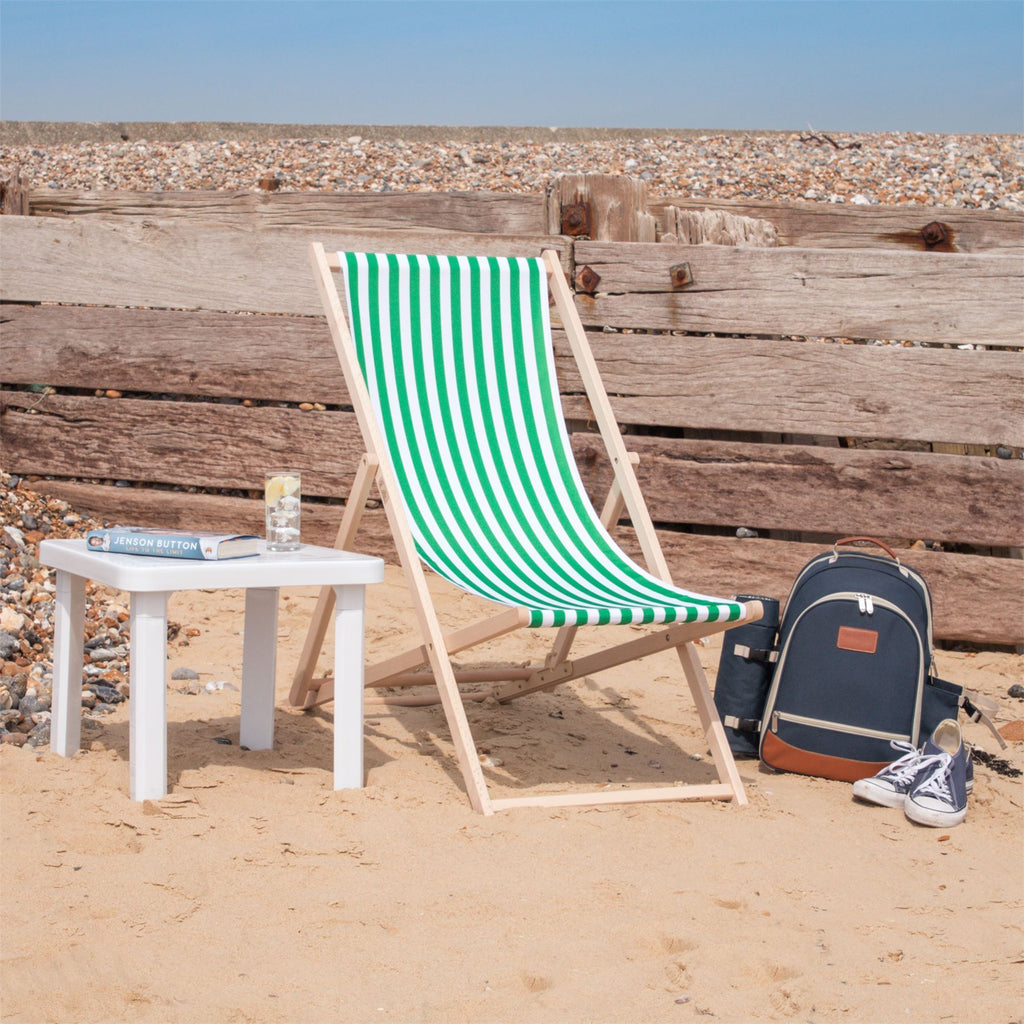
[[(588, 337), (620, 423), (1024, 445), (1024, 357), (1018, 352)], [(587, 420), (582, 382), (559, 351), (566, 412)]]

